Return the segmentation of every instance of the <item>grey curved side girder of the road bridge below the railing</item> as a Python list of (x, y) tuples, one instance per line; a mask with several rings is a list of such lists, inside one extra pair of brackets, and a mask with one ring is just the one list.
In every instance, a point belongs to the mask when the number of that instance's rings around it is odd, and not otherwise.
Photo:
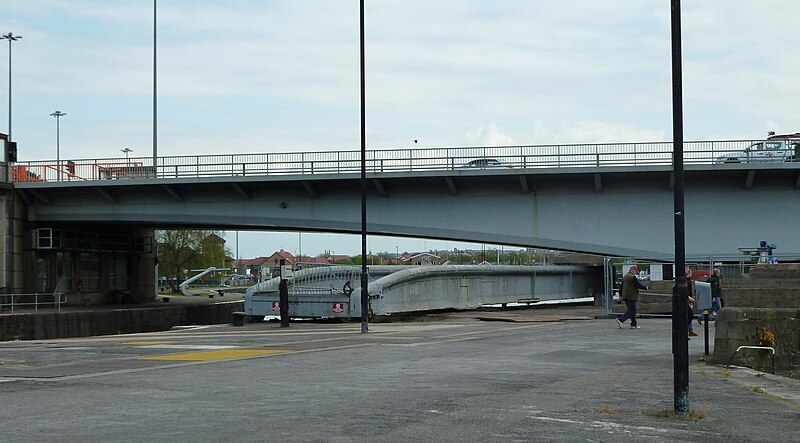
[[(670, 259), (668, 167), (463, 170), (369, 175), (373, 235)], [(800, 252), (795, 165), (687, 168), (686, 252), (734, 255), (760, 240)], [(360, 233), (356, 174), (20, 184), (35, 227), (113, 223)]]

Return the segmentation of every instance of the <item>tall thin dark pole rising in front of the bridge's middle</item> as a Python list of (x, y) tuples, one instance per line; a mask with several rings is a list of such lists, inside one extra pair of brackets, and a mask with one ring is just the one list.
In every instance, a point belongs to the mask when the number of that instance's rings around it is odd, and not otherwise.
[(361, 332), (369, 331), (367, 287), (367, 119), (364, 83), (364, 0), (361, 0)]

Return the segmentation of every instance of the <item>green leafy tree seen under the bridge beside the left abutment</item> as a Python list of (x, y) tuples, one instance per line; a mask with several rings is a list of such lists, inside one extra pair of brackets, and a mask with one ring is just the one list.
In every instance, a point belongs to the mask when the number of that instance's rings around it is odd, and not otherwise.
[(224, 266), (225, 240), (219, 231), (176, 229), (156, 233), (158, 238), (158, 266), (167, 277), (170, 289), (177, 292), (178, 282), (186, 278), (184, 270)]

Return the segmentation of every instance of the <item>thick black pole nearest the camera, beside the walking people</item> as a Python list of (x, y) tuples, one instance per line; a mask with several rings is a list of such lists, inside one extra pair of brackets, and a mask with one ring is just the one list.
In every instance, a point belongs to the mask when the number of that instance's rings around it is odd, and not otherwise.
[(675, 285), (672, 287), (672, 354), (675, 413), (689, 413), (689, 315), (683, 201), (683, 80), (681, 68), (681, 2), (672, 0), (672, 161), (675, 174)]

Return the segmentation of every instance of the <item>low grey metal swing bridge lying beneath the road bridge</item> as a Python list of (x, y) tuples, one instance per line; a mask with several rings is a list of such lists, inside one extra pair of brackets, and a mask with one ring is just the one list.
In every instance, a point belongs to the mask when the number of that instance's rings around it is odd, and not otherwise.
[[(392, 315), (574, 299), (600, 292), (602, 277), (600, 267), (589, 266), (371, 266), (370, 309), (374, 315)], [(247, 290), (244, 300), (247, 315), (278, 315), (278, 280), (275, 278)], [(297, 271), (289, 286), (289, 315), (298, 318), (360, 317), (360, 280), (358, 266)], [(344, 288), (345, 282), (350, 282), (352, 292)]]

